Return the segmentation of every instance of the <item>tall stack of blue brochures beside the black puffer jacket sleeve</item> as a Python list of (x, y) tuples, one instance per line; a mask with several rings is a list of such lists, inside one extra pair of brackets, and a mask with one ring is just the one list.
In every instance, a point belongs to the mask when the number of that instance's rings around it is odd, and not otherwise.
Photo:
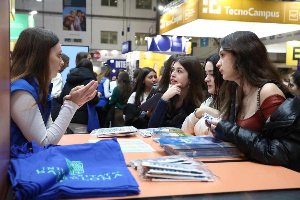
[(169, 155), (204, 158), (238, 157), (241, 154), (234, 144), (211, 136), (160, 138), (158, 142)]

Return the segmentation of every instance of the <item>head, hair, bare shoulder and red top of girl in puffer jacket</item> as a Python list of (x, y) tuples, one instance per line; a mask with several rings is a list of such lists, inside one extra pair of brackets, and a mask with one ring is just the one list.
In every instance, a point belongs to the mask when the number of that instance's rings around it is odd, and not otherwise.
[[(224, 113), (223, 119), (229, 119), (232, 97), (235, 96), (235, 122), (243, 128), (262, 132), (265, 121), (258, 110), (258, 86), (268, 79), (282, 84), (280, 74), (269, 61), (265, 46), (253, 32), (237, 31), (220, 40), (220, 44), (217, 67), (223, 79), (231, 81), (223, 88), (226, 93), (220, 110)], [(283, 84), (282, 87), (288, 90)], [(259, 102), (263, 117), (268, 119), (285, 99), (274, 83), (265, 84), (260, 90)]]

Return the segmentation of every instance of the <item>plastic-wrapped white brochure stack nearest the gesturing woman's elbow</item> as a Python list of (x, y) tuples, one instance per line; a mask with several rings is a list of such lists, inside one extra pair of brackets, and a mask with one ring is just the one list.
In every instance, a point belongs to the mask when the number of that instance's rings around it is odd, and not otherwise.
[(126, 127), (112, 127), (112, 128), (99, 128), (91, 132), (91, 136), (95, 138), (104, 137), (119, 137), (119, 136), (130, 136), (137, 134), (138, 129), (133, 126)]

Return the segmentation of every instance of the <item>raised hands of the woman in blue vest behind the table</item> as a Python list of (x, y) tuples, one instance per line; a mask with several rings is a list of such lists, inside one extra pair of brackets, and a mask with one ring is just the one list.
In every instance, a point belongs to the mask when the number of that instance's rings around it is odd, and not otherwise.
[(70, 91), (70, 101), (76, 103), (79, 108), (91, 100), (97, 94), (98, 81), (92, 80), (87, 85), (78, 85)]

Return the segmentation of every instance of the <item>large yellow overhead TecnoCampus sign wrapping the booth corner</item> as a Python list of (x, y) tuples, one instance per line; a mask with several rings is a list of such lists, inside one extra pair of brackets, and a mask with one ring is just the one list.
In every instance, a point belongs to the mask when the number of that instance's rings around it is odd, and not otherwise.
[(300, 24), (300, 2), (190, 0), (161, 16), (159, 32), (167, 32), (195, 19)]

